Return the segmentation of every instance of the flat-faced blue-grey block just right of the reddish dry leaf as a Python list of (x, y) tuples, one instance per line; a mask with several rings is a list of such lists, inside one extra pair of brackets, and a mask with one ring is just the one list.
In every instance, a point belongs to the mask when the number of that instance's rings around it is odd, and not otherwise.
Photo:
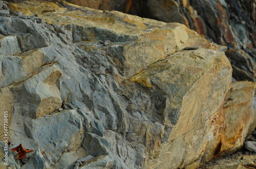
[(82, 131), (82, 118), (75, 110), (38, 117), (25, 124), (27, 136), (51, 154), (48, 158), (54, 163), (63, 151), (70, 151), (79, 146), (82, 141)]

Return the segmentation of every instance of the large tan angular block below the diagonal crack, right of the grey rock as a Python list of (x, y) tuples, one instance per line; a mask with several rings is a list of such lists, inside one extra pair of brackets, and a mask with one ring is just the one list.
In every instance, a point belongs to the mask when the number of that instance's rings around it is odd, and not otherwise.
[[(210, 119), (224, 100), (230, 78), (231, 68), (224, 53), (199, 49), (170, 55), (122, 82), (134, 89), (123, 91), (131, 98), (130, 106), (138, 107), (131, 115), (135, 118), (144, 110), (142, 117), (156, 118), (147, 124), (138, 117), (130, 120), (138, 136), (146, 132), (147, 167), (178, 168), (196, 159), (208, 160), (200, 156), (207, 148), (212, 149), (208, 147), (210, 142), (216, 142), (203, 135), (212, 132)], [(140, 104), (145, 102), (150, 106)], [(170, 152), (174, 154), (167, 160)]]

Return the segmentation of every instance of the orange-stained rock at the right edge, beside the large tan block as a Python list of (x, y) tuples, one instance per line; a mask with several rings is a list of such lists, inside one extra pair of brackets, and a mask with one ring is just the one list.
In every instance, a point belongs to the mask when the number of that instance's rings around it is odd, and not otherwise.
[(256, 111), (252, 109), (254, 82), (234, 82), (222, 109), (224, 122), (220, 153), (233, 152), (243, 146), (245, 137), (256, 125)]

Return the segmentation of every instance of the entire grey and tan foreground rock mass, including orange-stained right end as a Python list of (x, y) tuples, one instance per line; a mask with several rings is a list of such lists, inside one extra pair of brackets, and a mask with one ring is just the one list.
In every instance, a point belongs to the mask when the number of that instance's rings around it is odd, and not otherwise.
[(222, 47), (180, 23), (65, 2), (8, 7), (0, 107), (13, 147), (34, 150), (22, 168), (196, 168), (256, 126), (255, 83), (231, 84)]

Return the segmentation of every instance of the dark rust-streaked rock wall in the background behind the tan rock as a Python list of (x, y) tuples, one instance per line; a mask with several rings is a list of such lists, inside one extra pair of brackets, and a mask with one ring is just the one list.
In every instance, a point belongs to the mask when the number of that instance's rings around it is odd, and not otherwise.
[(212, 42), (228, 46), (236, 80), (256, 81), (256, 2), (253, 0), (67, 0), (80, 6), (117, 10), (164, 22), (179, 22)]

